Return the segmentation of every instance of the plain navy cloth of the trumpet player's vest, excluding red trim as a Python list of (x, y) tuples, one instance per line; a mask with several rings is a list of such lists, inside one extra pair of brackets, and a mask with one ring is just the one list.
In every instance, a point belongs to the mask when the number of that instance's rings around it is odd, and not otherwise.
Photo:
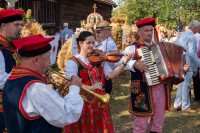
[(32, 80), (40, 79), (34, 76), (25, 76), (15, 80), (9, 79), (4, 86), (3, 108), (8, 133), (61, 133), (61, 128), (50, 125), (44, 118), (28, 120), (19, 110), (22, 92)]

